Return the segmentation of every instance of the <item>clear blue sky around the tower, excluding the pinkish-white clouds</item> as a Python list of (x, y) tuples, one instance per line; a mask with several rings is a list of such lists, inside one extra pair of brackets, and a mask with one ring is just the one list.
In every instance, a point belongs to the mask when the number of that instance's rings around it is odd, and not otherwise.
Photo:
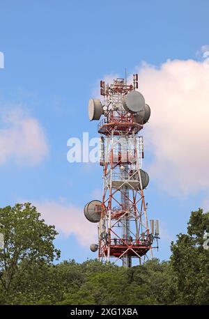
[[(196, 52), (209, 42), (208, 10), (207, 0), (1, 1), (1, 113), (19, 115), (18, 123), (1, 118), (0, 141), (2, 130), (11, 133), (15, 126), (19, 134), (24, 120), (37, 131), (35, 136), (26, 130), (31, 145), (36, 138), (40, 142), (34, 146), (40, 152), (35, 162), (23, 155), (24, 145), (20, 154), (14, 153), (18, 140), (0, 161), (1, 206), (24, 200), (56, 202), (66, 210), (72, 206), (77, 214), (93, 199), (102, 188), (102, 169), (98, 164), (70, 164), (66, 155), (70, 137), (82, 137), (82, 132), (97, 136), (98, 123), (88, 121), (86, 108), (98, 80), (122, 77), (125, 67), (132, 74), (142, 61), (157, 67), (168, 59), (197, 61)], [(155, 160), (149, 148), (146, 159)], [(189, 212), (201, 206), (204, 197), (203, 187), (185, 196), (172, 195), (150, 176), (149, 217), (155, 212), (164, 227), (155, 256), (169, 258), (171, 240), (185, 231)], [(95, 256), (66, 228), (56, 246), (62, 259)]]

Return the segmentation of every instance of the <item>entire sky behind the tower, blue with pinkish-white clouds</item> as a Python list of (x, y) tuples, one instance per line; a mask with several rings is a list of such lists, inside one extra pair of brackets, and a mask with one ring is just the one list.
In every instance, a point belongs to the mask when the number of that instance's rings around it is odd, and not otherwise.
[(95, 258), (83, 208), (100, 199), (102, 169), (69, 163), (67, 142), (98, 136), (88, 100), (125, 68), (152, 112), (143, 167), (148, 218), (160, 219), (154, 256), (167, 260), (190, 212), (208, 209), (208, 12), (207, 0), (0, 0), (1, 207), (36, 205), (59, 231), (61, 260)]

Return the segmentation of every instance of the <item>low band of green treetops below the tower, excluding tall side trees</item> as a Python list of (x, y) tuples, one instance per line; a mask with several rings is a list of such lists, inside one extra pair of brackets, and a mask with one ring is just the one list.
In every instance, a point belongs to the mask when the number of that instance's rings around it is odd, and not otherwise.
[(0, 290), (1, 304), (163, 304), (159, 287), (166, 296), (166, 267), (157, 259), (131, 269), (98, 260), (32, 263), (26, 271), (20, 265), (9, 293)]

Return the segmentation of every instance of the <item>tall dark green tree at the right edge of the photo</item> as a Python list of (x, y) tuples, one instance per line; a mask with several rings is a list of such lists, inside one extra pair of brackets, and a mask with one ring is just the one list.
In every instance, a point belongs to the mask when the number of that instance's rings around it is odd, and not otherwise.
[(171, 267), (176, 284), (176, 304), (209, 304), (209, 251), (203, 235), (209, 232), (209, 212), (191, 213), (187, 234), (171, 243)]

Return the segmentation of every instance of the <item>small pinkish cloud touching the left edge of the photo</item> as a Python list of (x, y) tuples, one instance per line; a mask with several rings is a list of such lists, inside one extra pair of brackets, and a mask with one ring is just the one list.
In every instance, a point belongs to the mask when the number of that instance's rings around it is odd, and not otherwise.
[(0, 164), (14, 160), (17, 164), (36, 165), (48, 153), (48, 146), (40, 123), (36, 118), (24, 114), (22, 109), (0, 114)]

